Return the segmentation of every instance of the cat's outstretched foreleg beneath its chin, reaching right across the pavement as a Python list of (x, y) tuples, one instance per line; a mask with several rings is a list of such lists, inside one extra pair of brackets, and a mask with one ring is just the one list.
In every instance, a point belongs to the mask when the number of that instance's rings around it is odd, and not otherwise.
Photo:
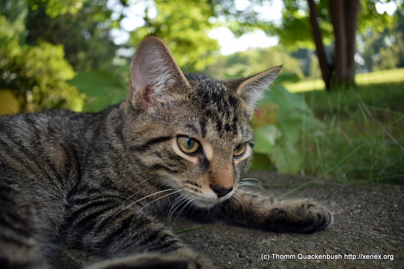
[[(221, 220), (227, 224), (274, 232), (311, 233), (332, 222), (331, 213), (308, 199), (276, 199), (236, 193), (223, 205)], [(220, 215), (218, 215), (220, 218)]]

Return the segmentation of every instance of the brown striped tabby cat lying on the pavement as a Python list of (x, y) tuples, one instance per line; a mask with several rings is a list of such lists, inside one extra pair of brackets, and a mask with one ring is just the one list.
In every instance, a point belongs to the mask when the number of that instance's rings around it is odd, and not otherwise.
[(248, 121), (280, 70), (228, 81), (184, 74), (148, 36), (125, 102), (0, 117), (0, 268), (52, 268), (55, 246), (96, 255), (91, 268), (212, 268), (155, 218), (183, 207), (266, 231), (327, 227), (315, 201), (237, 190), (254, 147)]

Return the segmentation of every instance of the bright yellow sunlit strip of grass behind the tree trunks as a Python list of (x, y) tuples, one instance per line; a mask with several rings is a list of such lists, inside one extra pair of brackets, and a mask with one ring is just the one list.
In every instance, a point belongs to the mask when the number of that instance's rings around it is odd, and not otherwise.
[[(371, 73), (357, 74), (355, 81), (358, 85), (371, 85), (383, 83), (401, 83), (404, 82), (404, 68), (375, 71)], [(301, 81), (294, 84), (286, 84), (285, 88), (292, 93), (307, 92), (313, 90), (324, 90), (323, 80)]]

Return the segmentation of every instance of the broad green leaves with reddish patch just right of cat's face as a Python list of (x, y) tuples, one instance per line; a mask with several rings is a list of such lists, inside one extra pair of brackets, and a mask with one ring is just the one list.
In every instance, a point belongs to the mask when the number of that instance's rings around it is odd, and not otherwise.
[(270, 163), (281, 173), (295, 174), (302, 165), (297, 150), (301, 136), (324, 128), (300, 96), (286, 91), (279, 82), (268, 91), (252, 117), (255, 155), (251, 168), (268, 169)]

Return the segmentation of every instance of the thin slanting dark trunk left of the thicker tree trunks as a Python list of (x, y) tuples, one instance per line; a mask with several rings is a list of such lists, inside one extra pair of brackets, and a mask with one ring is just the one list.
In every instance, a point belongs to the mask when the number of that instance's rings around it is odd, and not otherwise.
[(316, 45), (317, 57), (319, 58), (321, 74), (325, 83), (326, 89), (330, 89), (332, 65), (327, 62), (327, 57), (324, 51), (323, 37), (321, 35), (321, 29), (318, 23), (318, 12), (314, 0), (308, 0), (310, 8), (310, 23), (312, 24), (313, 38)]

